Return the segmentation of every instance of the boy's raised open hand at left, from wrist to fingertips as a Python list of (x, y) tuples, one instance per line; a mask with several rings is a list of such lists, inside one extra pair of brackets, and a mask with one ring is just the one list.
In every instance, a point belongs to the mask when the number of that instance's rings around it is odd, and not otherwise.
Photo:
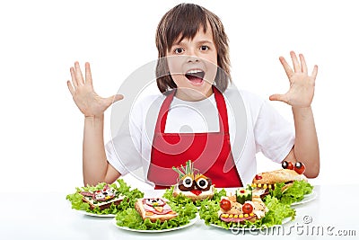
[(68, 90), (73, 95), (74, 103), (85, 117), (100, 117), (113, 102), (123, 99), (123, 95), (116, 94), (102, 98), (93, 90), (90, 64), (85, 63), (85, 80), (78, 62), (70, 67), (71, 79), (67, 81)]

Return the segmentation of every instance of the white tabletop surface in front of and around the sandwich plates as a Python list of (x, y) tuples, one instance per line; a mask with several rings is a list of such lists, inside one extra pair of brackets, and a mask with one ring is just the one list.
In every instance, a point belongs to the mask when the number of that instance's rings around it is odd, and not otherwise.
[[(16, 196), (19, 193), (2, 192), (0, 239), (358, 239), (358, 190), (358, 185), (315, 186), (317, 198), (295, 206), (295, 220), (285, 224), (279, 235), (258, 231), (234, 235), (229, 230), (206, 226), (201, 219), (191, 227), (176, 231), (135, 233), (115, 227), (112, 218), (85, 216), (71, 209), (66, 193), (29, 193), (20, 199)], [(146, 196), (153, 192), (146, 191)], [(304, 223), (308, 220), (311, 222)], [(344, 234), (351, 236), (339, 236)]]

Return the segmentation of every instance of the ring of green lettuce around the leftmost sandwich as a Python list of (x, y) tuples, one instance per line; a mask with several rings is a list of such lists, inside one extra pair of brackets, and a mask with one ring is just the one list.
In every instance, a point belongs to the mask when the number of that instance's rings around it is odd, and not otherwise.
[(117, 214), (119, 211), (125, 210), (127, 208), (132, 208), (135, 206), (137, 199), (144, 197), (144, 192), (139, 191), (138, 189), (130, 190), (130, 186), (123, 179), (118, 179), (116, 182), (109, 184), (109, 186), (116, 190), (116, 197), (121, 194), (124, 195), (124, 200), (120, 204), (115, 205), (111, 204), (108, 209), (100, 209), (98, 207), (90, 209), (90, 204), (83, 202), (83, 195), (80, 194), (81, 191), (97, 191), (103, 189), (106, 185), (105, 182), (101, 182), (96, 186), (87, 185), (86, 187), (76, 188), (76, 191), (72, 194), (66, 195), (66, 200), (71, 202), (73, 209), (83, 210), (86, 212), (91, 212), (99, 215), (107, 214)]

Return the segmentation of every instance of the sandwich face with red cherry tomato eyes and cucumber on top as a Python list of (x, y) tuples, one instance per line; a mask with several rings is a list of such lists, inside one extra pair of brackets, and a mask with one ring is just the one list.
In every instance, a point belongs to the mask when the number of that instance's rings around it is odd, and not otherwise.
[(226, 223), (243, 224), (245, 221), (255, 222), (266, 216), (268, 209), (258, 195), (253, 195), (249, 187), (240, 188), (235, 195), (222, 197), (218, 218)]

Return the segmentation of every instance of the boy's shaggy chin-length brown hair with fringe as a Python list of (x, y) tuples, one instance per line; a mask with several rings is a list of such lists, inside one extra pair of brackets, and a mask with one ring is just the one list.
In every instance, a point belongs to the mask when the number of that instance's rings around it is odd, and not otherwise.
[(202, 27), (206, 32), (207, 24), (212, 29), (217, 49), (217, 74), (215, 86), (221, 91), (227, 88), (231, 81), (230, 58), (228, 38), (224, 32), (223, 24), (215, 13), (197, 4), (178, 4), (165, 13), (158, 24), (156, 32), (156, 47), (158, 49), (158, 61), (156, 66), (157, 86), (161, 93), (177, 88), (169, 74), (166, 52), (169, 51), (175, 40), (192, 40), (197, 31)]

